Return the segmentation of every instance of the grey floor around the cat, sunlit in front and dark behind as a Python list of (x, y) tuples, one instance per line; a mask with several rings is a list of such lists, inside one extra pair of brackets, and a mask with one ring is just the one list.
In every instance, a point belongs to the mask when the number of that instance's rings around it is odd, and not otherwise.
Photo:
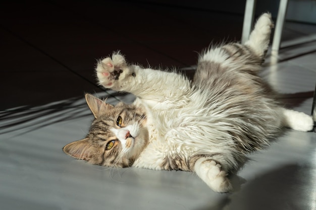
[[(96, 85), (96, 59), (121, 50), (143, 65), (176, 66), (189, 76), (210, 42), (239, 40), (243, 16), (128, 1), (28, 1), (0, 7), (0, 208), (11, 209), (316, 209), (316, 135), (287, 130), (250, 155), (215, 193), (181, 171), (89, 165), (62, 148), (93, 119), (84, 93), (131, 102)], [(96, 4), (98, 3), (98, 4)], [(316, 26), (287, 22), (264, 77), (280, 100), (311, 113)], [(240, 185), (241, 184), (241, 185)]]

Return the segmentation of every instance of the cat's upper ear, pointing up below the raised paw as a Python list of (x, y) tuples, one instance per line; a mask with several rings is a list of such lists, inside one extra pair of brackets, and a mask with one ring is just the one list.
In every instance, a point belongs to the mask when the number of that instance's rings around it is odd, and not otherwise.
[(87, 104), (95, 118), (98, 118), (100, 115), (106, 113), (109, 109), (112, 109), (114, 107), (92, 96), (91, 94), (86, 94), (85, 97)]

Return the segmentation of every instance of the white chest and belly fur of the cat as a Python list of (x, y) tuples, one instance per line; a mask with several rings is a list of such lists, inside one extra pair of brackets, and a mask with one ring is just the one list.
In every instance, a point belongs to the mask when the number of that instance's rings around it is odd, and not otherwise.
[(192, 106), (188, 106), (187, 110), (183, 107), (182, 109), (168, 107), (162, 110), (166, 107), (164, 104), (157, 102), (155, 104), (155, 107), (161, 109), (155, 110), (148, 107), (146, 109), (149, 143), (134, 162), (134, 167), (154, 170), (177, 169), (168, 168), (168, 161), (178, 159), (182, 163), (181, 169), (189, 170), (187, 163), (193, 155), (223, 154), (231, 146), (227, 141), (222, 147), (215, 146), (218, 144), (215, 141), (225, 137), (225, 134), (220, 132), (221, 137), (219, 137), (216, 134), (218, 130), (216, 133), (212, 132), (210, 129), (212, 122), (208, 122), (209, 116), (205, 113), (207, 110), (196, 113), (196, 110), (189, 108)]

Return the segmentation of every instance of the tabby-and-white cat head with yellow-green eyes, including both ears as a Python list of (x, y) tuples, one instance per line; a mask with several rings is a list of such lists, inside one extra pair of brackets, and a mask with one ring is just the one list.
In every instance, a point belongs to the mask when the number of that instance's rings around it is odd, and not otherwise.
[(122, 102), (112, 106), (90, 94), (85, 98), (95, 118), (87, 136), (64, 152), (95, 165), (131, 166), (148, 143), (144, 109)]

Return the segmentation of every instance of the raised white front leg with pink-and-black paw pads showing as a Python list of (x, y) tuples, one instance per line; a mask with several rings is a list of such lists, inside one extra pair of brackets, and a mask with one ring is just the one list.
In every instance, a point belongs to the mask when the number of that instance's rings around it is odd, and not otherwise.
[(185, 76), (129, 65), (120, 53), (100, 60), (97, 63), (96, 75), (99, 84), (105, 88), (160, 102), (179, 99), (191, 89), (190, 81)]

